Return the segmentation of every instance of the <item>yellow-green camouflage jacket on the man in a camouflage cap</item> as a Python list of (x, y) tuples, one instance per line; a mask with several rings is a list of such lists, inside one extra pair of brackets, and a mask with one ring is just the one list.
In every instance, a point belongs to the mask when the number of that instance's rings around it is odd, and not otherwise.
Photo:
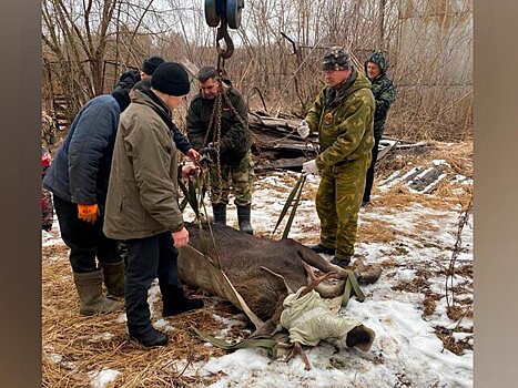
[(306, 115), (318, 131), (319, 171), (331, 170), (370, 154), (373, 149), (374, 96), (368, 80), (356, 70), (338, 89), (324, 88)]

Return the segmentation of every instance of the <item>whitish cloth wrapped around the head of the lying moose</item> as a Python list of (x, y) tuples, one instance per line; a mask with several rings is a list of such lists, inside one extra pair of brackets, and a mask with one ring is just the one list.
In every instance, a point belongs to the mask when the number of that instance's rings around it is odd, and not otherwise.
[(321, 340), (333, 343), (346, 338), (347, 333), (359, 325), (357, 319), (333, 314), (315, 290), (301, 297), (304, 288), (290, 294), (283, 303), (281, 325), (290, 331), (292, 343), (311, 346)]

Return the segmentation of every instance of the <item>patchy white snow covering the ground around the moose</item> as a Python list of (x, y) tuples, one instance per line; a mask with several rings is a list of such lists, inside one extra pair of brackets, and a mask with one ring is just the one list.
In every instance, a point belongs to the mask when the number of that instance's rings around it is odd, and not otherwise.
[[(297, 174), (278, 172), (260, 176), (253, 194), (252, 222), (256, 234), (270, 236), (277, 222)], [(318, 217), (314, 205), (314, 193), (318, 177), (309, 176), (298, 206), (290, 237), (302, 243), (318, 242)], [(380, 193), (379, 195), (383, 195)], [(423, 195), (423, 194), (415, 194)], [(375, 200), (376, 197), (374, 197)], [(212, 210), (206, 202), (207, 212)], [(185, 218), (193, 213), (185, 211)], [(228, 224), (237, 227), (235, 206), (227, 210)], [(454, 340), (468, 340), (473, 346), (473, 318), (463, 317), (454, 321), (446, 315), (446, 275), (451, 248), (456, 242), (460, 208), (437, 211), (419, 204), (404, 210), (367, 206), (362, 208), (359, 223), (383, 221), (394, 233), (389, 242), (357, 242), (356, 255), (367, 263), (380, 263), (384, 273), (380, 279), (364, 286), (364, 303), (349, 300), (341, 315), (359, 318), (376, 333), (369, 353), (357, 349), (338, 350), (333, 345), (321, 343), (306, 348), (312, 369), (304, 370), (299, 357), (288, 364), (272, 360), (257, 349), (241, 349), (223, 357), (211, 358), (206, 364), (190, 365), (185, 376), (220, 376), (211, 387), (473, 387), (473, 350), (460, 356), (445, 349), (436, 335), (436, 328), (453, 333)], [(285, 219), (287, 218), (287, 215)], [(424, 226), (426, 223), (426, 227)], [(274, 238), (280, 238), (284, 223)], [(473, 217), (463, 231), (463, 249), (457, 265), (473, 263)], [(51, 233), (43, 232), (43, 246), (62, 245), (57, 222)], [(324, 256), (329, 258), (329, 256)], [(412, 285), (419, 279), (426, 287), (416, 289)], [(455, 277), (454, 285), (463, 290), (464, 298), (473, 299), (473, 276)], [(156, 300), (158, 286), (150, 292), (150, 303)], [(435, 295), (436, 307), (424, 314), (427, 293)], [(459, 295), (457, 294), (457, 297)], [(153, 308), (153, 307), (152, 307)], [(228, 329), (242, 329), (243, 323), (221, 318)], [(154, 323), (158, 328), (173, 329), (167, 321)], [(217, 334), (224, 338), (226, 330)], [(93, 334), (92, 340), (106, 334)], [(210, 346), (210, 345), (209, 345)], [(57, 359), (59, 355), (53, 355)], [(184, 363), (177, 361), (179, 365)], [(186, 365), (186, 364), (185, 364)], [(91, 387), (102, 388), (115, 381), (119, 371), (102, 370), (91, 376)]]

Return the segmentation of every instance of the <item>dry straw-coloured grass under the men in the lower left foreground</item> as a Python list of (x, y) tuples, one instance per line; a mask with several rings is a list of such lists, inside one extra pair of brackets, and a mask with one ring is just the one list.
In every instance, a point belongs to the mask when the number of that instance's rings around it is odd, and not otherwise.
[[(62, 259), (48, 258), (58, 252)], [(196, 327), (214, 335), (226, 328), (211, 313), (217, 304), (219, 315), (235, 315), (237, 310), (225, 302), (205, 298), (207, 308), (170, 318), (169, 323), (174, 327), (167, 333), (170, 344), (146, 349), (129, 340), (125, 323), (119, 319), (118, 314), (79, 315), (79, 298), (65, 247), (45, 247), (42, 269), (43, 387), (89, 387), (89, 372), (99, 372), (103, 368), (121, 372), (116, 384), (109, 387), (194, 387), (202, 380), (182, 375), (186, 363), (206, 361), (210, 357), (224, 354), (191, 336), (189, 329)], [(160, 310), (160, 306), (155, 306), (155, 309)], [(155, 316), (153, 319), (158, 318)], [(230, 337), (237, 335), (237, 331), (231, 333)], [(54, 360), (55, 355), (61, 357), (59, 363)], [(213, 379), (207, 377), (203, 382), (209, 384)]]

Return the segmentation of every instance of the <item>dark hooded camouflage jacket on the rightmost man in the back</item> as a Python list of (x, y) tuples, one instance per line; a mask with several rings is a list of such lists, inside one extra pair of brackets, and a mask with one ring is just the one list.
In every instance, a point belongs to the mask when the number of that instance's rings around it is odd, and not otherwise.
[(382, 73), (374, 80), (369, 80), (373, 84), (372, 90), (376, 100), (376, 111), (374, 112), (374, 137), (380, 139), (385, 130), (385, 120), (387, 119), (388, 109), (396, 98), (394, 83), (387, 76), (387, 61), (380, 52), (370, 54), (365, 61), (365, 72), (367, 72), (367, 62), (374, 62), (379, 65)]

